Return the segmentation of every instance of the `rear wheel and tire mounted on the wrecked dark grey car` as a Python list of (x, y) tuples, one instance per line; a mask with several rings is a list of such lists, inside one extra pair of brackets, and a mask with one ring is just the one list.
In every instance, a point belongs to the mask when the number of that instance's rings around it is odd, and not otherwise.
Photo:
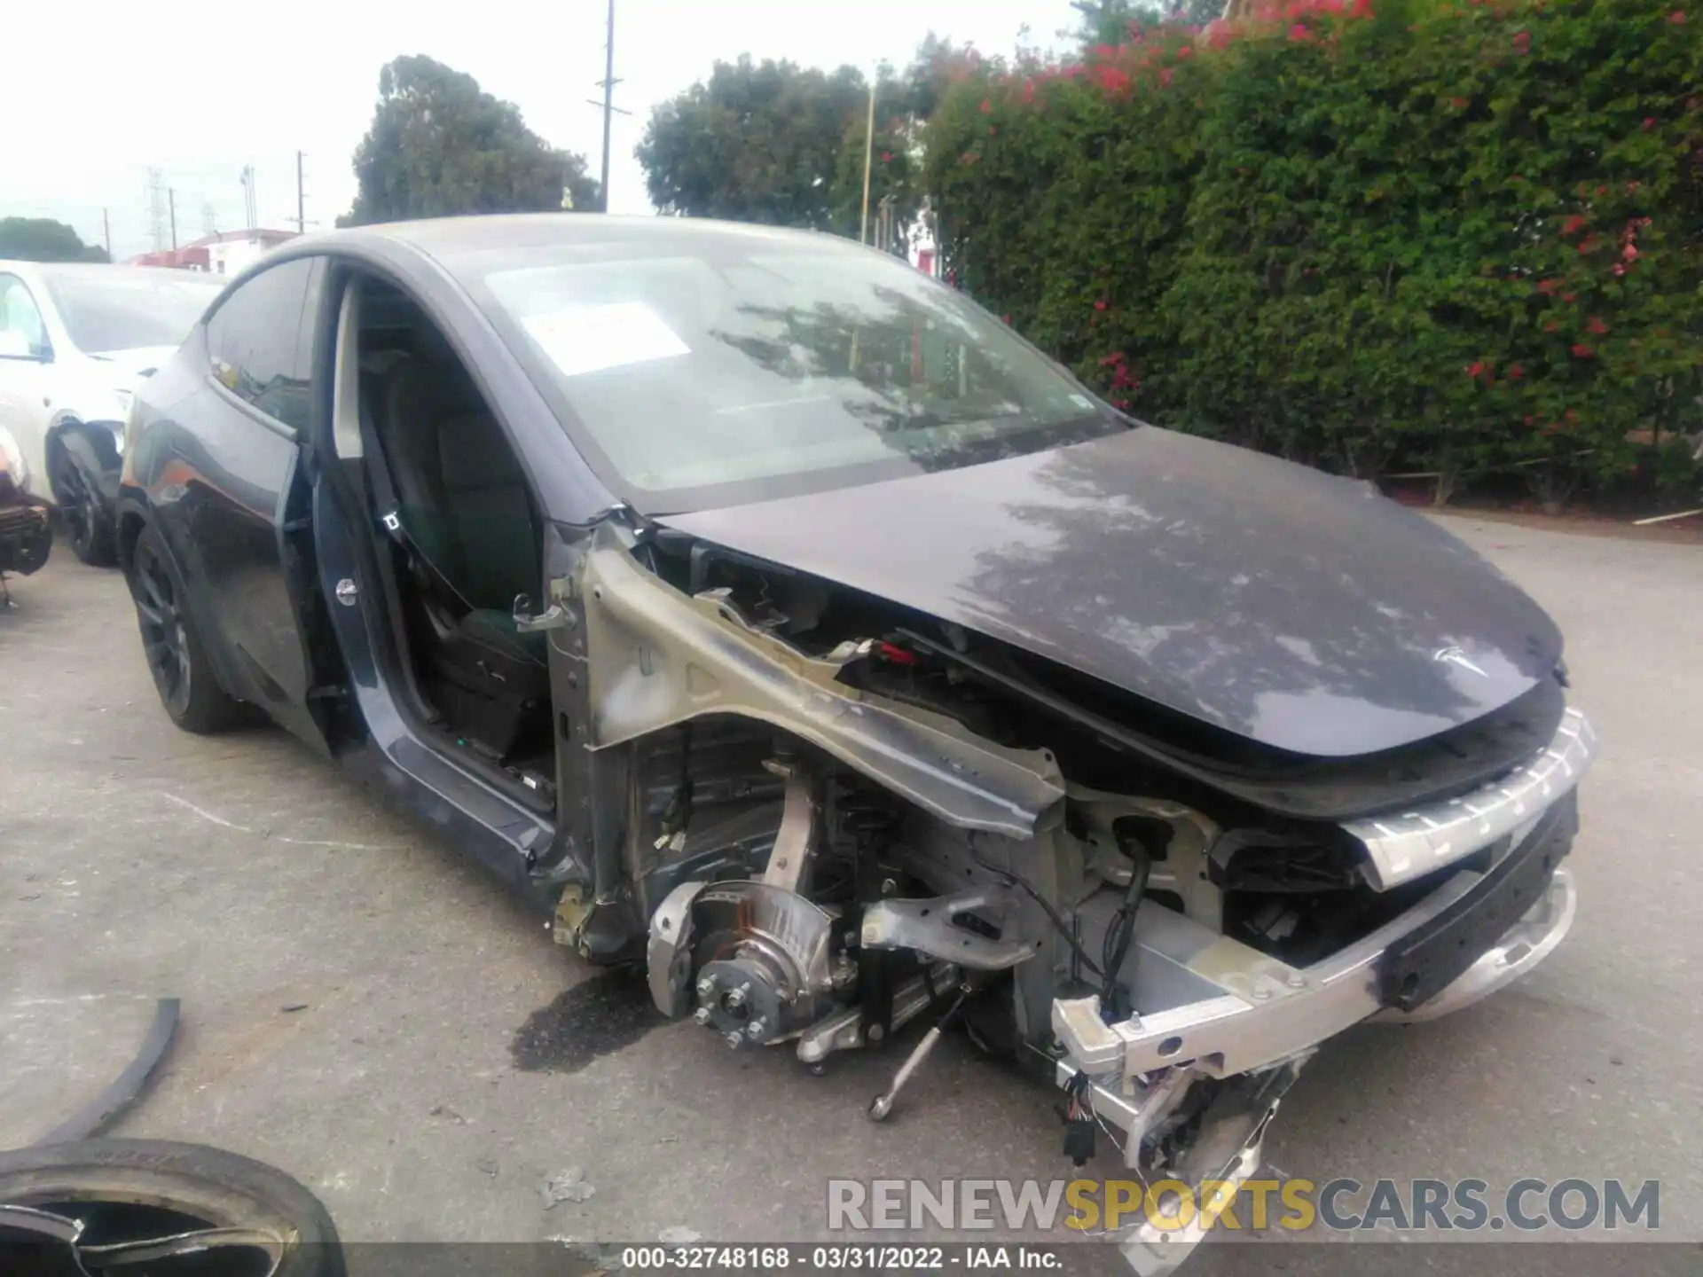
[(136, 538), (128, 579), (141, 650), (170, 720), (196, 736), (223, 732), (242, 722), (242, 701), (220, 686), (186, 606), (184, 579), (153, 528), (143, 528)]

